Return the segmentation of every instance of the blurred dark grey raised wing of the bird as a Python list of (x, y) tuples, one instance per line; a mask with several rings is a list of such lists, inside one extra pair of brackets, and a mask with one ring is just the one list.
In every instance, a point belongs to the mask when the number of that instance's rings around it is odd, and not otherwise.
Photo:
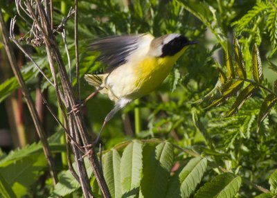
[(124, 64), (132, 51), (135, 51), (139, 44), (139, 37), (142, 35), (114, 36), (98, 39), (89, 44), (89, 50), (99, 51), (98, 61), (107, 65), (110, 72), (117, 66)]

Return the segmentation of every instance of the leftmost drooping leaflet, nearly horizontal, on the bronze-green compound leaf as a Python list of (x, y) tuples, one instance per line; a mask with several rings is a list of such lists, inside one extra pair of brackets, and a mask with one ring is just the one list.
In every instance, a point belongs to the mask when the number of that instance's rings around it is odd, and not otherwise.
[(220, 98), (218, 98), (217, 100), (213, 101), (213, 103), (211, 105), (208, 105), (208, 107), (206, 107), (205, 109), (208, 109), (210, 107), (215, 107), (217, 105), (220, 105), (222, 102), (227, 100), (229, 97), (233, 96), (233, 94), (237, 93), (242, 88), (243, 84), (244, 84), (243, 80), (237, 80), (237, 81), (233, 82), (233, 84), (231, 84), (224, 91), (224, 93), (222, 94), (222, 96)]

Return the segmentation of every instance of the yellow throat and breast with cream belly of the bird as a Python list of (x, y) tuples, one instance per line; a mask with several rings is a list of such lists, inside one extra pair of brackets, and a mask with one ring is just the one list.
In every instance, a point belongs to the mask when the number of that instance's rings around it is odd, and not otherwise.
[(150, 93), (166, 79), (184, 51), (185, 48), (172, 57), (146, 56), (141, 61), (118, 66), (106, 79), (109, 98), (115, 101), (119, 98), (134, 100)]

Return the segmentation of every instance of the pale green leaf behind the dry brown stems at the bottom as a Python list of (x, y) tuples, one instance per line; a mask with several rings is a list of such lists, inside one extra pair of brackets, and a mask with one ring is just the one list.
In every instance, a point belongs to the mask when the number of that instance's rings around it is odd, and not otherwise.
[[(84, 159), (84, 165), (87, 169), (87, 175), (89, 178), (93, 174), (91, 165), (87, 158)], [(73, 163), (73, 168), (75, 172), (78, 172), (76, 163)], [(49, 198), (54, 197), (64, 197), (66, 195), (71, 194), (75, 190), (80, 188), (80, 183), (73, 177), (70, 170), (62, 171), (60, 173), (59, 182), (56, 184), (51, 196)]]

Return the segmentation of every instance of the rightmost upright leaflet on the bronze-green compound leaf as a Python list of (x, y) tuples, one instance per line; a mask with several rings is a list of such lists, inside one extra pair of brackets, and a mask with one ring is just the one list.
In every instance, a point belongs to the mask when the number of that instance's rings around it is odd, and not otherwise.
[(260, 61), (260, 52), (256, 44), (252, 49), (252, 74), (256, 82), (262, 82), (262, 62)]

